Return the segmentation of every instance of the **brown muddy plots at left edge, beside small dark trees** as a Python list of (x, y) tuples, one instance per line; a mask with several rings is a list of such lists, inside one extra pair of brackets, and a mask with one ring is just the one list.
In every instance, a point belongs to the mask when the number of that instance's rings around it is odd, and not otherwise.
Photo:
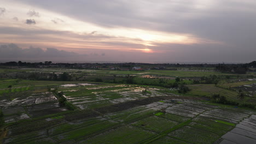
[(67, 111), (66, 108), (60, 107), (59, 101), (51, 92), (32, 93), (13, 100), (2, 100), (0, 106), (5, 123)]

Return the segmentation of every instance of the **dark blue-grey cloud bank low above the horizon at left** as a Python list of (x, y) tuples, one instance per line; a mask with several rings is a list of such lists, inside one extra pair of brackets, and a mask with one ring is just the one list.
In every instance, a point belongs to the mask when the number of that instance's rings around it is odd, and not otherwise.
[(70, 57), (77, 56), (77, 53), (48, 48), (45, 51), (40, 48), (30, 47), (21, 49), (15, 44), (0, 45), (1, 58), (40, 58), (40, 57)]

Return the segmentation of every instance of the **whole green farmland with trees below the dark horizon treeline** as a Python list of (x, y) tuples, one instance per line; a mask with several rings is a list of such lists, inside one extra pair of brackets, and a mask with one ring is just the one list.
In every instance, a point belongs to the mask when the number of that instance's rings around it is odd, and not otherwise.
[(251, 74), (107, 69), (0, 69), (0, 139), (205, 144), (256, 115)]

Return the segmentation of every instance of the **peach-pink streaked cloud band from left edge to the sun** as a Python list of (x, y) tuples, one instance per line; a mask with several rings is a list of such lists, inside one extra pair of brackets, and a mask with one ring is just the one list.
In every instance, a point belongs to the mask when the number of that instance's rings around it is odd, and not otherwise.
[[(103, 34), (83, 33), (77, 34), (69, 31), (51, 31), (49, 29), (25, 29), (18, 27), (1, 27), (2, 35), (13, 35), (19, 44), (33, 44), (40, 47), (69, 47), (69, 48), (95, 48), (95, 49), (143, 49), (140, 39), (113, 37)], [(24, 37), (26, 35), (26, 37)], [(0, 43), (11, 43), (11, 40), (0, 39)], [(48, 41), (48, 43), (45, 43)], [(49, 46), (49, 44), (51, 46)], [(63, 44), (63, 45), (59, 45)], [(27, 45), (29, 46), (29, 45)], [(71, 48), (71, 49), (72, 49)], [(102, 53), (102, 52), (100, 52)]]

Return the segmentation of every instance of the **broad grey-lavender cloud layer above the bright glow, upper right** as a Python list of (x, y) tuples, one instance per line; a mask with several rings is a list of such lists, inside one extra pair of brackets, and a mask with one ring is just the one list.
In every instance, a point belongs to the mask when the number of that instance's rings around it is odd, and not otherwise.
[[(187, 33), (234, 45), (246, 44), (248, 38), (256, 37), (256, 19), (252, 18), (256, 15), (254, 0), (24, 2), (102, 27)], [(66, 7), (66, 4), (72, 7)]]

